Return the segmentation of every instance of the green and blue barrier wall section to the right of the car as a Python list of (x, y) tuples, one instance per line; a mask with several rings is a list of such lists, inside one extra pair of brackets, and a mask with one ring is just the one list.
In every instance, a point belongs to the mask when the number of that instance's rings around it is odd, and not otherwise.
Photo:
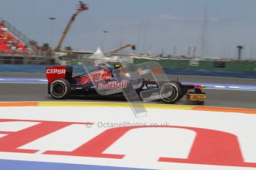
[[(142, 64), (148, 59), (134, 58), (134, 64)], [(166, 73), (174, 75), (207, 75), (234, 78), (256, 78), (256, 61), (197, 61), (160, 59), (158, 62)]]

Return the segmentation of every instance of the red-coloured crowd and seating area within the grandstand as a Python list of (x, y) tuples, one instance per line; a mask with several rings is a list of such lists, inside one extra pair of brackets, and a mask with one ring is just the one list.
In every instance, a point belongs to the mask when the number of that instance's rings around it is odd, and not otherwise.
[(25, 50), (26, 46), (8, 31), (4, 21), (0, 21), (0, 52), (23, 54)]

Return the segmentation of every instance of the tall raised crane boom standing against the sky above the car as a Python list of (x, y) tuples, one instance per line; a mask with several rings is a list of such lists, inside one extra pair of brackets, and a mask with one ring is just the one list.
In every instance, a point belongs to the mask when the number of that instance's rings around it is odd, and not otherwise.
[(59, 43), (54, 50), (55, 52), (59, 52), (60, 47), (62, 47), (62, 43), (63, 43), (66, 35), (68, 34), (68, 31), (70, 30), (70, 27), (73, 24), (73, 21), (75, 21), (76, 16), (78, 16), (79, 13), (82, 13), (85, 10), (88, 10), (88, 5), (83, 3), (82, 1), (79, 1), (79, 4), (76, 7), (76, 13), (73, 13), (73, 15), (70, 18), (70, 21), (68, 21), (68, 25), (66, 26), (64, 32), (62, 33), (62, 37), (60, 38)]

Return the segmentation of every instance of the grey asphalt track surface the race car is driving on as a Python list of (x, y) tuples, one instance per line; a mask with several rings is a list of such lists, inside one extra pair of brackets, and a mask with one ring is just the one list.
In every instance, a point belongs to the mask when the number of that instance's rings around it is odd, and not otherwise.
[[(0, 73), (0, 77), (7, 78), (45, 78), (39, 73)], [(213, 84), (245, 84), (256, 85), (256, 79), (223, 78), (211, 76), (170, 75), (170, 79), (179, 77), (179, 81), (213, 83)], [(207, 99), (205, 106), (222, 106), (234, 108), (256, 109), (256, 91), (205, 89)], [(0, 101), (56, 101), (47, 94), (47, 84), (0, 84)], [(65, 101), (119, 101), (117, 98), (86, 98), (72, 97)], [(125, 100), (122, 100), (125, 102)], [(154, 103), (161, 103), (155, 101)], [(184, 98), (177, 104), (194, 105)]]

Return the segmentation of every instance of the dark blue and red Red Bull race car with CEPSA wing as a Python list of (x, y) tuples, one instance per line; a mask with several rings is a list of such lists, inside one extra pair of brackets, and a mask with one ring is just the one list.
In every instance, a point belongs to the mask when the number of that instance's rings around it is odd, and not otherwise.
[[(133, 79), (129, 73), (123, 73), (120, 67), (97, 67), (89, 74), (74, 77), (72, 73), (73, 67), (69, 66), (47, 67), (48, 94), (56, 99), (65, 99), (72, 95), (124, 97), (124, 92), (127, 94), (134, 90), (140, 101), (147, 101), (145, 98), (150, 98), (148, 101), (162, 100), (165, 103), (175, 103), (184, 95), (187, 101), (203, 103), (206, 100), (206, 93), (201, 91), (203, 86), (182, 84), (180, 81)], [(157, 94), (158, 98), (151, 98), (152, 94)], [(131, 93), (131, 96), (135, 95)]]

